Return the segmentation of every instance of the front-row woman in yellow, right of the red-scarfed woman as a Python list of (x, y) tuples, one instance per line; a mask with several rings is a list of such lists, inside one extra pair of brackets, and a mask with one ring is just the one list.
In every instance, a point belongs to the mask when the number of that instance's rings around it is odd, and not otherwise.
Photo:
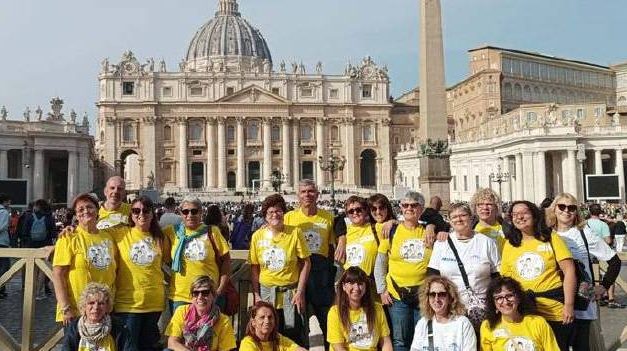
[(257, 301), (250, 309), (246, 336), (240, 351), (306, 351), (292, 340), (279, 334), (277, 313), (272, 304)]

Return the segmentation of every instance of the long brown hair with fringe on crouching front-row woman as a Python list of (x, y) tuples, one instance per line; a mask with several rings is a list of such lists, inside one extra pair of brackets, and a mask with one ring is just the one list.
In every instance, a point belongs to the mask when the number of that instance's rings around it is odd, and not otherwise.
[(374, 309), (374, 297), (372, 296), (373, 289), (370, 277), (368, 277), (366, 272), (362, 271), (359, 267), (349, 267), (344, 271), (335, 288), (335, 304), (337, 305), (338, 313), (340, 314), (340, 322), (342, 323), (344, 330), (350, 331), (350, 303), (348, 301), (348, 296), (344, 292), (345, 283), (358, 283), (366, 286), (366, 292), (364, 293), (364, 296), (362, 296), (359, 305), (366, 313), (368, 332), (372, 333), (374, 325), (376, 324), (376, 312)]

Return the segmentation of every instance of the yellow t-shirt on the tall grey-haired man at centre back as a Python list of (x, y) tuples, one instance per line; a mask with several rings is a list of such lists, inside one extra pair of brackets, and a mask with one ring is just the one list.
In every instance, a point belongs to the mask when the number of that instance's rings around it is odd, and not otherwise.
[(283, 223), (300, 228), (309, 252), (329, 256), (329, 245), (335, 244), (333, 215), (318, 209), (315, 215), (307, 216), (299, 208), (285, 214)]

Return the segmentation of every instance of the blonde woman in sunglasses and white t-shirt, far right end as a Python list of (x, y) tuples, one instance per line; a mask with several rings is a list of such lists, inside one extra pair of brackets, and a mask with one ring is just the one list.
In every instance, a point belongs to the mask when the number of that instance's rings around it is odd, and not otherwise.
[[(591, 303), (585, 311), (575, 310), (575, 337), (571, 339), (571, 346), (574, 351), (594, 349), (590, 346), (590, 322), (598, 318), (597, 304), (594, 295), (600, 298), (620, 273), (621, 261), (603, 239), (594, 235), (585, 221), (579, 215), (577, 199), (568, 193), (558, 194), (551, 206), (546, 209), (547, 225), (555, 230), (568, 246), (573, 258), (583, 264), (586, 274), (592, 279), (591, 259), (592, 256), (600, 261), (608, 262), (607, 273), (603, 277), (601, 285), (592, 287), (581, 283), (578, 294), (585, 296), (588, 294), (592, 298)], [(584, 241), (585, 237), (585, 241)], [(586, 248), (587, 242), (587, 248)]]

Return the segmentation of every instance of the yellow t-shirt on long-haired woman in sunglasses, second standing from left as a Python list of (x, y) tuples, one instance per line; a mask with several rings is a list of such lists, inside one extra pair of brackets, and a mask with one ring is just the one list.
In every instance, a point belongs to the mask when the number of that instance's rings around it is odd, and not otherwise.
[[(167, 227), (164, 232), (168, 230), (172, 231), (172, 227)], [(163, 311), (165, 286), (161, 265), (164, 243), (159, 244), (150, 233), (137, 227), (116, 226), (110, 232), (120, 257), (114, 310), (131, 313)]]

